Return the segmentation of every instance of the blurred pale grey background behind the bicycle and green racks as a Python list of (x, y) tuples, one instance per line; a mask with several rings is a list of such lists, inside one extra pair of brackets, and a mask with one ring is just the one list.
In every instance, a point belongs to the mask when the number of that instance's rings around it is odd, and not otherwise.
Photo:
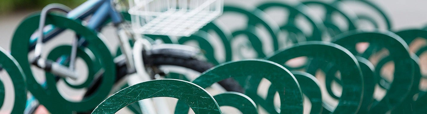
[[(18, 24), (33, 12), (40, 11), (44, 6), (50, 3), (61, 3), (70, 8), (79, 6), (86, 0), (0, 0), (0, 47), (5, 50), (10, 50), (12, 35), (15, 32)], [(257, 6), (260, 3), (268, 0), (225, 0), (226, 5), (242, 6), (251, 9), (252, 6)], [(283, 0), (286, 2), (297, 2), (298, 0)], [(331, 0), (322, 0), (331, 1)], [(369, 0), (379, 6), (391, 20), (393, 31), (399, 31), (408, 28), (421, 28), (427, 25), (427, 11), (425, 11), (427, 0)], [(362, 11), (363, 6), (348, 6), (355, 11)], [(316, 12), (313, 12), (316, 13)], [(272, 18), (280, 17), (274, 12), (269, 12)], [(234, 18), (234, 17), (233, 17)], [(221, 18), (225, 25), (237, 24), (233, 19)], [(234, 19), (236, 20), (236, 19)], [(117, 49), (117, 38), (115, 38), (114, 28), (107, 27), (102, 30), (102, 33), (108, 39), (110, 49)], [(64, 36), (72, 36), (67, 33)], [(67, 39), (67, 37), (61, 37)], [(60, 40), (58, 40), (60, 41)], [(271, 52), (272, 50), (269, 50)], [(112, 51), (114, 52), (114, 51)], [(222, 53), (222, 52), (217, 52)], [(216, 54), (220, 55), (220, 54)], [(423, 60), (426, 60), (424, 57)], [(425, 62), (425, 61), (424, 61)], [(424, 64), (425, 65), (425, 64)], [(424, 66), (425, 67), (425, 66)], [(4, 76), (4, 75), (3, 75)], [(424, 81), (424, 85), (427, 81)], [(82, 91), (80, 91), (82, 92)]]

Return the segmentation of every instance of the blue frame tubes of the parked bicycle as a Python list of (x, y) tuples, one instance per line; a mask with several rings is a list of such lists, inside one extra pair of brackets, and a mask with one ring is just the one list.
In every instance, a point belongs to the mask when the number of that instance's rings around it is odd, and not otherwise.
[[(89, 15), (93, 16), (91, 17), (88, 27), (90, 29), (98, 29), (100, 26), (102, 26), (102, 23), (105, 22), (105, 20), (108, 18), (108, 16), (111, 18), (113, 23), (120, 23), (123, 21), (120, 13), (115, 12), (110, 4), (111, 0), (88, 0), (82, 5), (78, 6), (77, 8), (71, 10), (67, 14), (67, 18), (76, 20), (83, 20), (87, 18)], [(43, 39), (43, 42), (49, 41), (51, 38), (55, 37), (59, 33), (63, 32), (65, 29), (56, 28), (55, 26), (45, 27), (44, 28), (44, 35), (45, 38)], [(37, 41), (38, 35), (32, 35), (30, 38), (30, 48), (29, 50), (34, 50), (35, 43)]]

